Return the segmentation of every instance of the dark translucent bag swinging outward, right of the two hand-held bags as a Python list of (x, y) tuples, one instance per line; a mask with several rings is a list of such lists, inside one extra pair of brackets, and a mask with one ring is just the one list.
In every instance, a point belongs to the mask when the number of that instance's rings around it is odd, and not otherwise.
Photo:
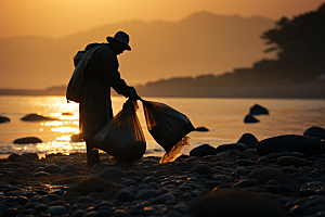
[(147, 129), (167, 153), (195, 129), (186, 115), (177, 110), (159, 102), (141, 101)]

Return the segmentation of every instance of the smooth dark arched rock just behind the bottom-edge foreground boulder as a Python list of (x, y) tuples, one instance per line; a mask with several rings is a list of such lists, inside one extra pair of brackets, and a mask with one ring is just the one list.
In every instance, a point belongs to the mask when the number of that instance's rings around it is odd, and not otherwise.
[(269, 180), (274, 179), (278, 183), (288, 186), (296, 191), (299, 190), (299, 184), (290, 176), (280, 169), (260, 168), (251, 171), (246, 179), (257, 179), (261, 184), (265, 184)]

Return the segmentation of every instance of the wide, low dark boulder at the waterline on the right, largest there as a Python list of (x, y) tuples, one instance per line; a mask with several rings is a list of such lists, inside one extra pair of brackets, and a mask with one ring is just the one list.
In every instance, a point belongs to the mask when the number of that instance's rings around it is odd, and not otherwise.
[(264, 156), (278, 150), (300, 152), (306, 156), (313, 155), (321, 148), (321, 143), (309, 137), (284, 135), (260, 141), (257, 145), (259, 155)]

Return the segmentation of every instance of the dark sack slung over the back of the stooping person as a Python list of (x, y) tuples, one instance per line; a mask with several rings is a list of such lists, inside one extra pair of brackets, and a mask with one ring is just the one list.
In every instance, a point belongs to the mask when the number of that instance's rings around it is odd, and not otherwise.
[[(83, 56), (81, 58), (81, 60), (78, 62), (74, 74), (69, 80), (69, 84), (67, 86), (67, 90), (66, 90), (66, 99), (67, 101), (74, 101), (74, 102), (80, 102), (80, 91), (81, 91), (81, 87), (82, 87), (82, 80), (83, 80), (83, 73), (84, 73), (84, 67), (88, 64), (88, 61), (90, 59), (90, 56), (99, 49), (101, 48), (101, 46), (96, 46), (92, 49), (90, 49), (89, 51), (87, 51)], [(77, 59), (80, 59), (81, 55), (81, 51), (78, 52), (75, 58), (74, 61), (76, 61)]]

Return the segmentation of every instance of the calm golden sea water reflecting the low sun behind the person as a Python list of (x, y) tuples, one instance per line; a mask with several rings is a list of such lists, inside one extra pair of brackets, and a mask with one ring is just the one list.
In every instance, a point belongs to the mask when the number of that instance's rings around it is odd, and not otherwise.
[[(216, 99), (216, 98), (144, 98), (165, 103), (185, 114), (195, 127), (206, 127), (209, 131), (193, 131), (191, 145), (184, 146), (183, 154), (200, 144), (214, 148), (236, 142), (243, 133), (249, 132), (258, 140), (280, 135), (302, 135), (312, 126), (325, 128), (325, 100), (297, 99)], [(116, 115), (125, 103), (122, 97), (113, 97)], [(146, 155), (161, 156), (164, 149), (155, 142), (146, 129), (142, 104), (139, 101), (136, 115), (146, 139)], [(259, 104), (269, 110), (270, 115), (256, 116), (260, 123), (245, 124), (249, 108)], [(84, 142), (72, 142), (70, 137), (79, 132), (78, 103), (67, 103), (65, 97), (21, 97), (0, 95), (0, 116), (11, 119), (0, 124), (0, 158), (11, 153), (73, 153), (86, 152)], [(37, 113), (54, 117), (51, 122), (24, 122), (21, 118)], [(15, 144), (24, 137), (38, 137), (41, 143)], [(2, 157), (1, 157), (2, 156)]]

